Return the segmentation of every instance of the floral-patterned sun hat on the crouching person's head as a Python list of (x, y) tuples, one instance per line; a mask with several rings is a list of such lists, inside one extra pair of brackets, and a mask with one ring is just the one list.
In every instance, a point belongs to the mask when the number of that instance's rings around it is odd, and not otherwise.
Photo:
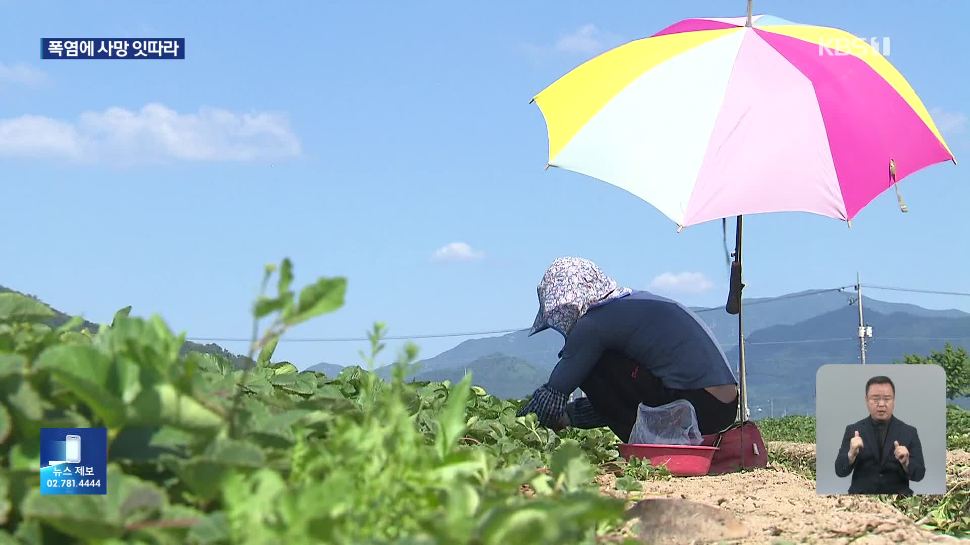
[(536, 288), (539, 311), (529, 336), (552, 328), (568, 337), (572, 327), (590, 308), (630, 295), (618, 288), (595, 263), (581, 257), (560, 257), (552, 262)]

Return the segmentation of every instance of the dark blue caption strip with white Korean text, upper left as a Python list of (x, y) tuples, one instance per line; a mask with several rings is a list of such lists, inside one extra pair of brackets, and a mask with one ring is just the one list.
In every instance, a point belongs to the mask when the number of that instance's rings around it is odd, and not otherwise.
[(41, 38), (42, 59), (183, 59), (184, 38)]

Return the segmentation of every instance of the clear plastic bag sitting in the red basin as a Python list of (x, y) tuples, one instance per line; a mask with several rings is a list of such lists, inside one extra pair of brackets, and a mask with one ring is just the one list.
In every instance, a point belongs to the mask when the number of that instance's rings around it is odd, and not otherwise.
[(631, 444), (699, 445), (703, 440), (691, 401), (677, 400), (659, 407), (640, 403), (636, 409)]

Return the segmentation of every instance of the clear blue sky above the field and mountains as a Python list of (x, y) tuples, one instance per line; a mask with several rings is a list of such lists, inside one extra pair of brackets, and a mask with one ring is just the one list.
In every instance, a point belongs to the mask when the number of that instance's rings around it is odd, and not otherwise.
[[(134, 305), (190, 337), (247, 337), (261, 269), (284, 256), (298, 284), (349, 280), (344, 308), (291, 337), (361, 337), (374, 320), (391, 335), (527, 327), (560, 255), (632, 287), (672, 274), (658, 291), (724, 304), (720, 222), (677, 234), (620, 189), (543, 171), (545, 124), (529, 101), (606, 48), (690, 16), (742, 16), (743, 0), (365, 4), (0, 2), (0, 284), (94, 321)], [(963, 162), (904, 180), (910, 213), (890, 190), (851, 229), (748, 217), (746, 296), (851, 284), (857, 271), (970, 291), (970, 5), (931, 6), (755, 2), (756, 14), (889, 37), (889, 60)], [(184, 37), (185, 60), (39, 59), (42, 37), (159, 36)], [(445, 253), (469, 259), (434, 258), (456, 243), (470, 252)], [(970, 310), (968, 298), (869, 295)], [(432, 356), (460, 340), (418, 343)], [(277, 357), (350, 365), (364, 345), (283, 343)]]

